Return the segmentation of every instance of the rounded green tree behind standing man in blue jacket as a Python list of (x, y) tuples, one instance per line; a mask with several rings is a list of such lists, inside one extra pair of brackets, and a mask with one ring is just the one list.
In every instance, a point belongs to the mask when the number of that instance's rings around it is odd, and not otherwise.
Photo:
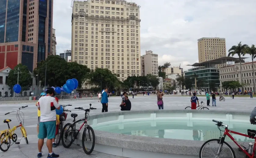
[(112, 72), (106, 68), (96, 68), (90, 73), (90, 83), (98, 87), (102, 86), (102, 89), (107, 87), (109, 90), (113, 90), (117, 81), (117, 75), (112, 74)]

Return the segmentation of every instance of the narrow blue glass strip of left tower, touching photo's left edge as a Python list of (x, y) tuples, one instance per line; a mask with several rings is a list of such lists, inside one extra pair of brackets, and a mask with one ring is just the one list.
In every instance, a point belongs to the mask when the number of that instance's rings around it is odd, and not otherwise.
[(0, 1), (0, 43), (5, 42), (6, 0)]

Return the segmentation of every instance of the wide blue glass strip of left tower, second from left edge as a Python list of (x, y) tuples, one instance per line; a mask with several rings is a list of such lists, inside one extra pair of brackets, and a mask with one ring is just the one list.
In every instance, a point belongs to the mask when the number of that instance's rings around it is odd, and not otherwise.
[(16, 42), (19, 36), (20, 0), (8, 0), (6, 42)]

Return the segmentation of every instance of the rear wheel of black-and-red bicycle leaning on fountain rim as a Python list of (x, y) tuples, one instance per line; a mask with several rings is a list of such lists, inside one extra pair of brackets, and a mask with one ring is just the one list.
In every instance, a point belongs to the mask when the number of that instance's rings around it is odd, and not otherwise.
[(71, 123), (67, 123), (62, 129), (61, 143), (65, 148), (69, 148), (73, 143), (73, 131), (70, 131), (73, 129), (74, 128)]

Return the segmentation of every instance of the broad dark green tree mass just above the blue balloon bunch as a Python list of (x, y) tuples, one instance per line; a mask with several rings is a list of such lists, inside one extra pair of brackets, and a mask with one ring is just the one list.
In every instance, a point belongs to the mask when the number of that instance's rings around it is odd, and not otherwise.
[[(47, 64), (47, 66), (46, 66)], [(48, 56), (45, 61), (37, 63), (37, 68), (34, 69), (34, 76), (38, 74), (38, 80), (41, 81), (41, 87), (44, 86), (46, 68), (46, 85), (50, 87), (61, 87), (68, 79), (76, 78), (78, 87), (89, 78), (90, 69), (85, 65), (76, 62), (68, 63), (59, 55)]]

